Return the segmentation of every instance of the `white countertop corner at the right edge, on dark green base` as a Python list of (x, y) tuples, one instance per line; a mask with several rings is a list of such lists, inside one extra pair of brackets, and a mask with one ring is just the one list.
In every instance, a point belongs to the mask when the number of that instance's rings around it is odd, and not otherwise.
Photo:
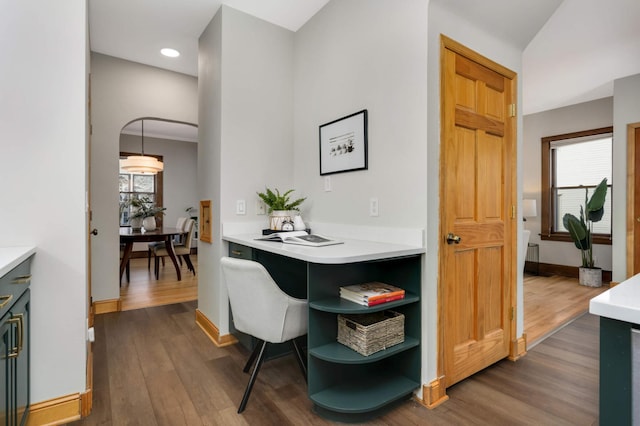
[(640, 274), (591, 299), (589, 312), (601, 317), (640, 324)]

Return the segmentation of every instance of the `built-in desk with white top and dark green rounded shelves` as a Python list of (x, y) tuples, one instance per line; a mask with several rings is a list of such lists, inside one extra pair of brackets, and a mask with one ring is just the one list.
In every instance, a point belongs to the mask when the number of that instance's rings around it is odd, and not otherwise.
[[(420, 387), (420, 291), (424, 248), (340, 239), (306, 247), (258, 241), (261, 235), (225, 235), (229, 256), (265, 266), (290, 295), (309, 301), (308, 394), (319, 415), (363, 422)], [(332, 237), (333, 238), (333, 237)], [(341, 286), (382, 281), (405, 289), (403, 300), (364, 307), (343, 300)], [(391, 309), (405, 317), (405, 341), (369, 356), (338, 343), (337, 316)]]

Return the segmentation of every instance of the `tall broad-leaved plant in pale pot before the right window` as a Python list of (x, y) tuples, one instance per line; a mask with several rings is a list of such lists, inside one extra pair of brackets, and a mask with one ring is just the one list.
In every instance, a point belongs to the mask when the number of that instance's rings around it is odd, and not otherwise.
[(591, 198), (589, 189), (585, 188), (584, 206), (580, 206), (580, 219), (571, 213), (562, 217), (562, 224), (582, 254), (582, 266), (579, 268), (580, 284), (589, 287), (602, 285), (602, 269), (595, 266), (593, 259), (593, 223), (602, 219), (606, 197), (607, 178), (604, 178), (596, 186)]

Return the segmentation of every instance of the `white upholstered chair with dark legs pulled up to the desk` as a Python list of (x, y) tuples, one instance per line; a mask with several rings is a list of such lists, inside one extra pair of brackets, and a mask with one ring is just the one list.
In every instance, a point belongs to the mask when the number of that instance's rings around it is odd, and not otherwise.
[(258, 262), (223, 257), (220, 263), (233, 324), (238, 331), (258, 340), (242, 370), (249, 372), (255, 362), (238, 408), (238, 413), (242, 413), (265, 360), (267, 344), (291, 342), (302, 375), (307, 380), (307, 363), (296, 341), (307, 334), (307, 300), (296, 299), (282, 291)]

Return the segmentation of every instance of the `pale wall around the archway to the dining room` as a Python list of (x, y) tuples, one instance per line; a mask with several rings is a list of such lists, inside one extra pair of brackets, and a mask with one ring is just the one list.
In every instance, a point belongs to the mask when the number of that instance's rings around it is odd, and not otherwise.
[[(118, 158), (122, 128), (142, 117), (197, 124), (195, 77), (91, 54), (92, 293), (118, 299)], [(186, 207), (186, 206), (185, 206)]]

